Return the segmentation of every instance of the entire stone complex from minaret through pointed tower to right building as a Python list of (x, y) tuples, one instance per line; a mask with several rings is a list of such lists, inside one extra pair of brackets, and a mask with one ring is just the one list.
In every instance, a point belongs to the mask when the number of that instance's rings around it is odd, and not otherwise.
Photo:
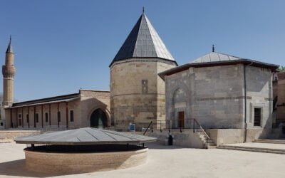
[(10, 40), (2, 69), (2, 122), (5, 118), (6, 128), (90, 126), (118, 131), (135, 124), (140, 131), (151, 122), (164, 122), (163, 128), (169, 129), (191, 128), (195, 119), (216, 143), (266, 137), (271, 130), (272, 73), (278, 66), (217, 53), (214, 47), (212, 53), (177, 66), (144, 11), (109, 67), (110, 92), (79, 90), (14, 103)]

